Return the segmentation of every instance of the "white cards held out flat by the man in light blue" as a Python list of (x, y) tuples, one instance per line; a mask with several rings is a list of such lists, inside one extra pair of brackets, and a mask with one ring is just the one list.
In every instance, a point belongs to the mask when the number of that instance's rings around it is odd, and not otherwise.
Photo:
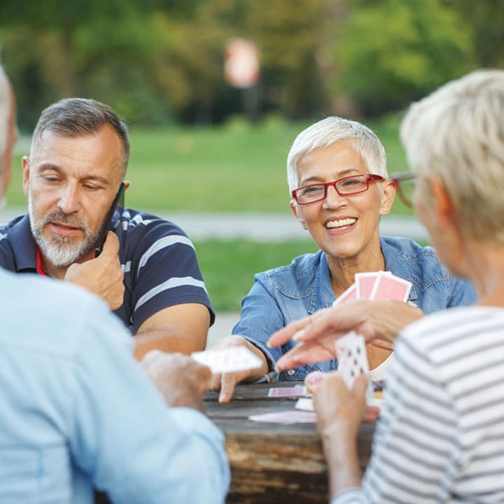
[(233, 373), (246, 369), (260, 368), (262, 361), (246, 347), (229, 347), (204, 352), (193, 352), (191, 357), (204, 366), (208, 366), (211, 372)]

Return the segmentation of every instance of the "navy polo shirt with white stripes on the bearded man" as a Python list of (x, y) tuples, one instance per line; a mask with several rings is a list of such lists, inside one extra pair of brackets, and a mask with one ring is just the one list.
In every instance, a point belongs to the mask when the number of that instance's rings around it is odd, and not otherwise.
[[(123, 305), (116, 314), (137, 333), (146, 319), (169, 306), (200, 303), (215, 315), (196, 251), (179, 226), (154, 215), (125, 208), (111, 229), (119, 238), (124, 272)], [(36, 273), (36, 245), (28, 215), (16, 217), (0, 233), (0, 266)]]

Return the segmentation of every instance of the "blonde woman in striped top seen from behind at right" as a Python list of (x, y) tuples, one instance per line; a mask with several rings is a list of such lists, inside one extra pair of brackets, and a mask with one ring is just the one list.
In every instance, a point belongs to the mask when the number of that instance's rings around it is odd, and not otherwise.
[[(504, 71), (487, 69), (414, 103), (402, 122), (416, 213), (440, 259), (473, 282), (479, 301), (400, 331), (363, 477), (356, 437), (365, 376), (351, 390), (337, 373), (307, 377), (332, 504), (504, 501), (503, 117)], [(313, 315), (272, 343), (297, 333), (306, 347), (297, 357), (309, 360), (311, 347), (316, 359), (341, 334), (337, 314)]]

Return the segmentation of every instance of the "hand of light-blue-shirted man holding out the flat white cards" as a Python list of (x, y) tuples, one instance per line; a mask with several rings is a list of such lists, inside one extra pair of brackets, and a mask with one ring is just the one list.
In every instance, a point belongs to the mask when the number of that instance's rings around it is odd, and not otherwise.
[(141, 361), (148, 376), (169, 406), (202, 411), (203, 399), (210, 389), (211, 370), (183, 354), (148, 352)]

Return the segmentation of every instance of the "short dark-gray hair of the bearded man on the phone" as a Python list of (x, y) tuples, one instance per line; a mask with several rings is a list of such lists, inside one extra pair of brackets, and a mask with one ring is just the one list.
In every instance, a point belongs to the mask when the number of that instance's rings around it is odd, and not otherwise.
[(123, 144), (120, 168), (124, 175), (130, 159), (130, 138), (128, 138), (127, 126), (111, 107), (92, 99), (66, 98), (45, 108), (34, 129), (30, 156), (46, 130), (77, 138), (96, 134), (106, 125), (116, 131)]

